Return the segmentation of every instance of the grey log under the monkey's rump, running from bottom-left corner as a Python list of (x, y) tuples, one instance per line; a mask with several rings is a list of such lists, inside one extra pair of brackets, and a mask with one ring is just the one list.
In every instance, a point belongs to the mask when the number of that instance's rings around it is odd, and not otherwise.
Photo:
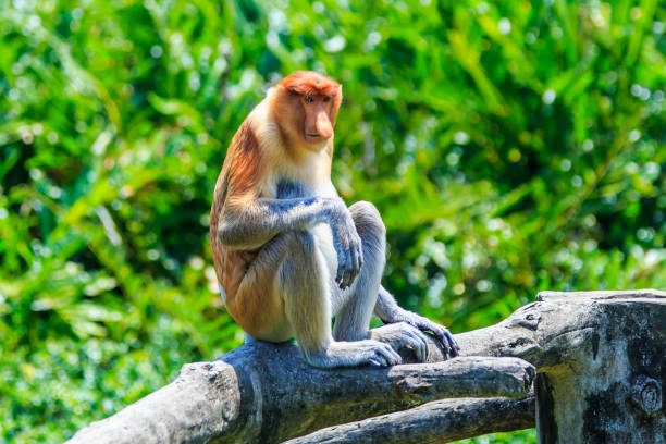
[(521, 359), (488, 357), (319, 370), (293, 345), (254, 342), (222, 360), (185, 366), (173, 383), (71, 443), (275, 443), (444, 397), (525, 397), (533, 377)]

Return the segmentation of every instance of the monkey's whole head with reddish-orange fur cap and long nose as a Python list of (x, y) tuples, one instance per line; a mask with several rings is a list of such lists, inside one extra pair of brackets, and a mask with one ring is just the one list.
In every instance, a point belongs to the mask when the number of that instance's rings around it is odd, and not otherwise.
[(273, 112), (289, 144), (318, 151), (333, 137), (342, 85), (312, 71), (284, 77), (272, 92)]

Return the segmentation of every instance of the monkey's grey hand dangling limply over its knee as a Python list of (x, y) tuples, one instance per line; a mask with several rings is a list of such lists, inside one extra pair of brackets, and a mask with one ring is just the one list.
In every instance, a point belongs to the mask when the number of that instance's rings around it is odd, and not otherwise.
[(341, 289), (345, 289), (354, 283), (363, 264), (363, 250), (351, 213), (342, 199), (335, 199), (330, 224), (337, 255), (335, 282)]

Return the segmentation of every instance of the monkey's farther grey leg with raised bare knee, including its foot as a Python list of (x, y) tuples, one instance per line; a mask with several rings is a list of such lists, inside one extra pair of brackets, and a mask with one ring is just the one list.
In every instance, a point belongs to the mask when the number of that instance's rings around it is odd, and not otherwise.
[(428, 342), (419, 329), (399, 322), (368, 330), (384, 271), (386, 229), (379, 211), (370, 202), (356, 202), (349, 207), (349, 211), (361, 238), (363, 264), (348, 289), (341, 291), (334, 284), (331, 286), (334, 297), (342, 299), (333, 337), (337, 341), (371, 338), (388, 344), (395, 350), (410, 347), (420, 360), (424, 360)]

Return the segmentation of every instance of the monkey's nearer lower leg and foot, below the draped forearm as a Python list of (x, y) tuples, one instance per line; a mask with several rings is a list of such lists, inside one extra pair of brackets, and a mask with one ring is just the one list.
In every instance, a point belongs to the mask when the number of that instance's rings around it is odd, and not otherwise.
[(288, 247), (279, 266), (275, 286), (304, 358), (321, 368), (400, 362), (393, 348), (377, 341), (333, 341), (332, 278), (324, 254), (309, 231), (286, 232), (281, 237), (288, 239)]

